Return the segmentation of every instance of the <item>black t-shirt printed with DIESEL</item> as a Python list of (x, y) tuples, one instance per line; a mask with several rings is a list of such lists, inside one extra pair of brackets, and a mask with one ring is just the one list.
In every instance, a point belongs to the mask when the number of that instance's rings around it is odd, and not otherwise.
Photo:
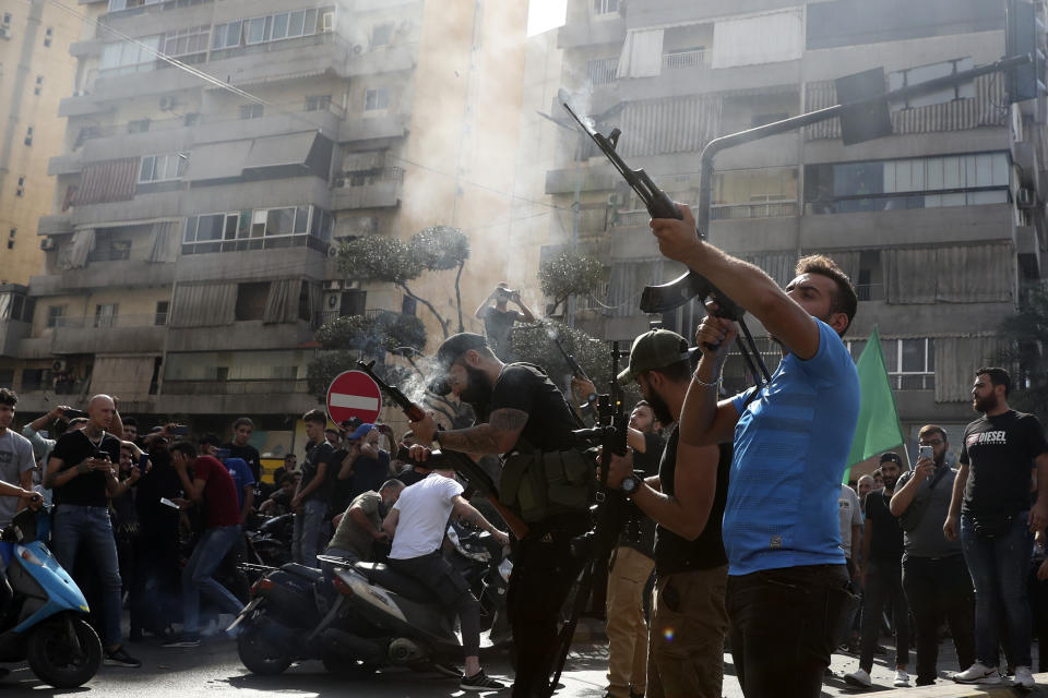
[(968, 466), (964, 514), (1019, 514), (1029, 508), (1034, 459), (1048, 452), (1033, 414), (1009, 410), (968, 424), (960, 462)]

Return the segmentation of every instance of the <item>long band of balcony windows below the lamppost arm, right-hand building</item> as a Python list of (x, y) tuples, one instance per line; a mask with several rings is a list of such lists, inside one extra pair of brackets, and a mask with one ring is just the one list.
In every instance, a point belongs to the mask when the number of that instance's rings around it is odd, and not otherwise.
[(1010, 201), (1007, 153), (805, 167), (809, 213), (977, 206)]

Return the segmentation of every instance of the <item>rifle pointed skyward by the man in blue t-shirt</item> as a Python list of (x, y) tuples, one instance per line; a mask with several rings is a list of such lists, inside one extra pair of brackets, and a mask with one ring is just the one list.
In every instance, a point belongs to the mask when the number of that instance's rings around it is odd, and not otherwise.
[[(677, 220), (683, 218), (680, 207), (674, 203), (674, 200), (670, 198), (666, 192), (655, 184), (643, 168), (631, 168), (626, 164), (626, 160), (622, 159), (622, 156), (618, 154), (616, 147), (619, 144), (619, 136), (622, 134), (622, 131), (612, 129), (611, 133), (604, 135), (579, 118), (568, 104), (567, 92), (561, 89), (558, 93), (558, 98), (564, 109), (568, 110), (568, 113), (571, 115), (571, 118), (574, 119), (586, 135), (597, 144), (597, 147), (600, 148), (600, 152), (604, 153), (605, 157), (608, 158), (622, 179), (624, 179), (630, 188), (636, 192), (638, 196), (641, 197), (652, 218), (676, 218)], [(695, 232), (700, 238), (703, 237), (701, 230), (696, 230)], [(672, 298), (669, 298), (669, 296), (672, 296)], [(764, 360), (757, 349), (753, 336), (742, 320), (746, 311), (701, 274), (689, 270), (687, 275), (670, 284), (644, 287), (644, 292), (641, 296), (641, 310), (645, 313), (664, 312), (665, 310), (677, 308), (692, 298), (703, 300), (710, 298), (714, 300), (717, 303), (716, 315), (718, 317), (734, 320), (739, 323), (739, 327), (742, 329), (742, 334), (746, 336), (749, 346), (742, 344), (741, 336), (737, 339), (737, 346), (746, 359), (750, 372), (753, 374), (754, 382), (760, 385), (761, 377), (763, 377), (764, 382), (771, 381), (771, 373), (769, 373), (767, 368), (764, 365)], [(760, 368), (760, 374), (757, 372), (758, 368)]]

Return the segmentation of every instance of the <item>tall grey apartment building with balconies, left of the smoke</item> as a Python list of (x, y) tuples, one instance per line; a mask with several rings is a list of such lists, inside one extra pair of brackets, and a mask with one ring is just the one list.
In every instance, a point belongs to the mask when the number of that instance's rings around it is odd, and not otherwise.
[(17, 293), (35, 312), (0, 328), (24, 409), (105, 390), (127, 413), (286, 436), (317, 406), (314, 329), (404, 310), (340, 272), (338, 242), (456, 225), (468, 198), (471, 160), (428, 154), (487, 86), (480, 39), (519, 14), (483, 4), (82, 1), (45, 269)]

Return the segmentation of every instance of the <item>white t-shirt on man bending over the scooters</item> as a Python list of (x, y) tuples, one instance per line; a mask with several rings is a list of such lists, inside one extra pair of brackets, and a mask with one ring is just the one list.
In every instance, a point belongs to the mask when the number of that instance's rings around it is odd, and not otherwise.
[(401, 498), (393, 505), (398, 514), (390, 557), (409, 559), (440, 547), (454, 508), (452, 500), (460, 494), (461, 484), (437, 472), (404, 488)]

